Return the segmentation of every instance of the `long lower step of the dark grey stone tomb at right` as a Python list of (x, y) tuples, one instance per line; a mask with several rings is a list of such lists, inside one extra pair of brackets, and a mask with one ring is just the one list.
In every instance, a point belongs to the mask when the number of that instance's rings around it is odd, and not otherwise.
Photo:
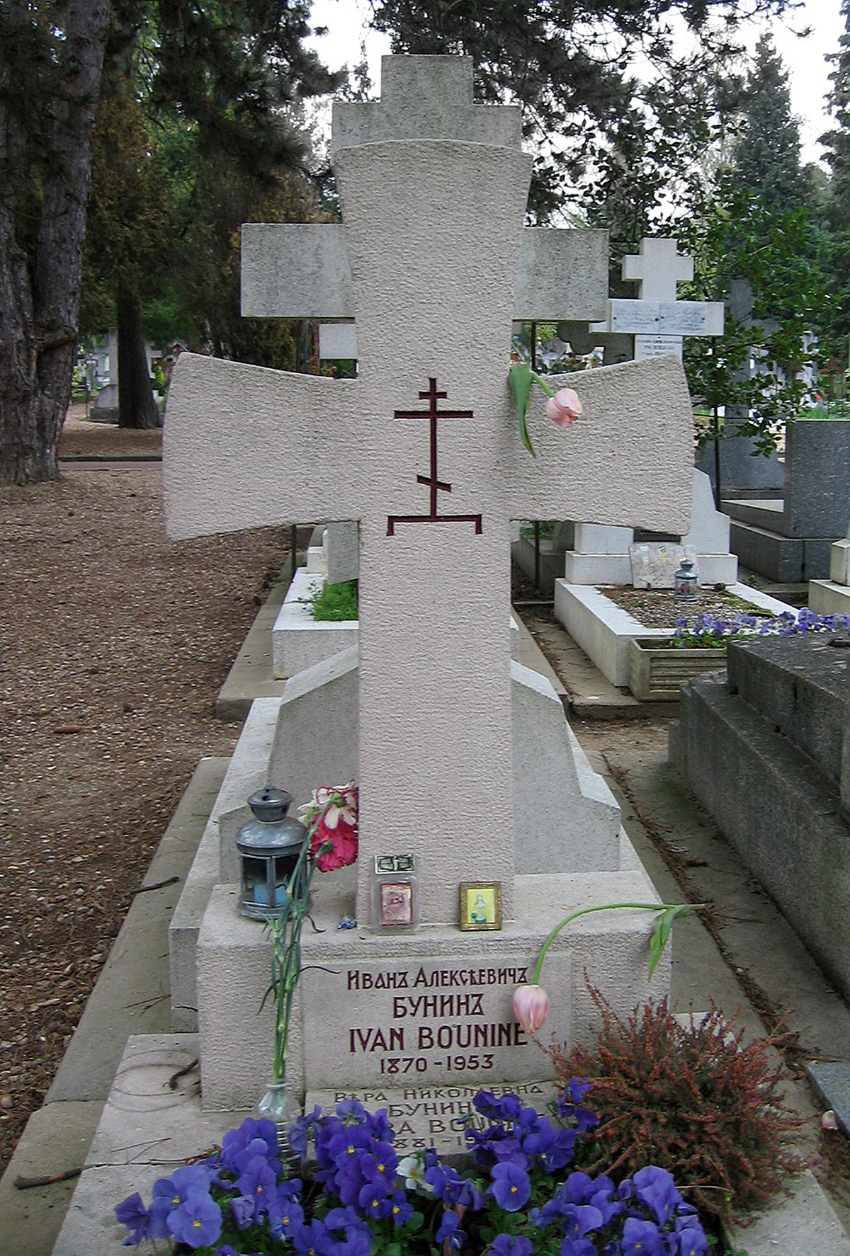
[(670, 761), (846, 997), (850, 826), (835, 782), (718, 673), (682, 687)]

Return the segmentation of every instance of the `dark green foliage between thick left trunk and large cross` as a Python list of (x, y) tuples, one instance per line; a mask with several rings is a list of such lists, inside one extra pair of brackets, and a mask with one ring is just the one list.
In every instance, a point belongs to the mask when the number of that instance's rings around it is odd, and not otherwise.
[(307, 0), (118, 0), (98, 116), (84, 328), (114, 325), (118, 279), (146, 334), (293, 368), (292, 320), (241, 319), (239, 227), (309, 221), (299, 102), (337, 87)]

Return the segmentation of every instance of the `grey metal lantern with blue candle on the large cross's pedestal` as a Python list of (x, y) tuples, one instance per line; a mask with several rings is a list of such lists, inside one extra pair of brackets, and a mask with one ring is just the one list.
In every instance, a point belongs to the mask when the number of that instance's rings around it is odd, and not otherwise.
[[(267, 786), (251, 794), (248, 805), (253, 819), (236, 833), (236, 849), (241, 863), (239, 911), (254, 921), (268, 921), (287, 902), (287, 885), (294, 872), (307, 836), (299, 820), (287, 815), (292, 794)], [(298, 877), (303, 894), (307, 882), (307, 860)]]

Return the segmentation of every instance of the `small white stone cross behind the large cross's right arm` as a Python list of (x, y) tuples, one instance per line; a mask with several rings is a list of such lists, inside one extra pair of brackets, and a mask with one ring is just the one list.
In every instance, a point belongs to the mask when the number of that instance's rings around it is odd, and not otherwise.
[(694, 259), (679, 254), (678, 240), (641, 240), (640, 252), (622, 259), (622, 278), (638, 283), (638, 300), (610, 300), (607, 318), (590, 330), (634, 334), (638, 362), (682, 358), (685, 335), (723, 335), (722, 301), (676, 300), (676, 285), (694, 278)]

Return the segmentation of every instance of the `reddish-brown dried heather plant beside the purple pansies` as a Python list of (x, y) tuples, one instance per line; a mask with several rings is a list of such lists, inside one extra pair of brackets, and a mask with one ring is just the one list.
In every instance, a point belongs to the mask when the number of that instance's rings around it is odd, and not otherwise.
[(558, 1078), (588, 1078), (585, 1103), (600, 1117), (588, 1173), (626, 1176), (658, 1164), (700, 1211), (729, 1218), (763, 1207), (805, 1161), (792, 1150), (801, 1119), (782, 1100), (782, 1044), (772, 1034), (742, 1045), (743, 1030), (712, 1004), (683, 1027), (666, 1000), (621, 1021), (597, 990), (602, 1015), (595, 1050), (552, 1045)]

